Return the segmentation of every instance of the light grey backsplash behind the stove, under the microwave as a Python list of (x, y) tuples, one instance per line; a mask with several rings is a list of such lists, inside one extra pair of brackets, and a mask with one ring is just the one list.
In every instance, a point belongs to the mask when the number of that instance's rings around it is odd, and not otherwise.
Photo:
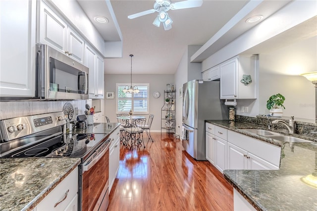
[[(67, 102), (71, 103), (74, 108), (78, 108), (78, 115), (84, 114), (86, 104), (91, 106), (91, 100), (0, 102), (0, 119), (62, 111)], [(76, 117), (74, 113), (72, 120), (75, 120)]]

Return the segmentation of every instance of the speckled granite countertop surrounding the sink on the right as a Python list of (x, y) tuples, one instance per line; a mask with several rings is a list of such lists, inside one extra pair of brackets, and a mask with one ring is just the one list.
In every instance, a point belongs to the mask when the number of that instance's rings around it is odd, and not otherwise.
[[(317, 189), (302, 182), (301, 178), (315, 172), (317, 166), (317, 139), (301, 137), (315, 143), (282, 143), (264, 136), (247, 133), (243, 128), (261, 126), (228, 120), (206, 120), (226, 129), (280, 146), (282, 158), (278, 170), (224, 170), (224, 177), (256, 210), (316, 211)], [(266, 128), (265, 128), (266, 129)], [(279, 132), (279, 131), (278, 131)]]

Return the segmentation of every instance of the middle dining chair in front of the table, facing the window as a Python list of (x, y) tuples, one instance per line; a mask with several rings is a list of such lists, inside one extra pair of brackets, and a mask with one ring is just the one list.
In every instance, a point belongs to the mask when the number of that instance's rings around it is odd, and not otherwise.
[(131, 140), (131, 149), (133, 148), (140, 148), (142, 147), (142, 143), (145, 148), (145, 144), (143, 141), (143, 128), (145, 122), (147, 121), (146, 118), (139, 118), (134, 119), (133, 123), (131, 123), (131, 127), (124, 128), (124, 135), (125, 140)]

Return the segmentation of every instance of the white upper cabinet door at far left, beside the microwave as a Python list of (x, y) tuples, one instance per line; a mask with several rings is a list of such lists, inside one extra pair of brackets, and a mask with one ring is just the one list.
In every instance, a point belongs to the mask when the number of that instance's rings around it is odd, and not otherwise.
[(0, 1), (0, 96), (35, 96), (36, 0)]

